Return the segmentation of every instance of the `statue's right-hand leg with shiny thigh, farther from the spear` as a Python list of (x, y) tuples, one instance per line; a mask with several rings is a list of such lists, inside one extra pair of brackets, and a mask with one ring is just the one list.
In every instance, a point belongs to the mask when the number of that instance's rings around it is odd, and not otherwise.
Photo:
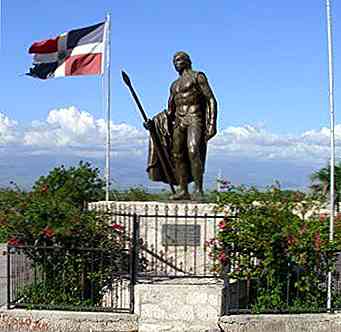
[(202, 161), (202, 151), (205, 148), (203, 140), (203, 130), (200, 123), (193, 122), (188, 128), (187, 146), (188, 156), (191, 165), (191, 172), (194, 179), (195, 199), (201, 199), (204, 194), (203, 190), (203, 173), (204, 165)]

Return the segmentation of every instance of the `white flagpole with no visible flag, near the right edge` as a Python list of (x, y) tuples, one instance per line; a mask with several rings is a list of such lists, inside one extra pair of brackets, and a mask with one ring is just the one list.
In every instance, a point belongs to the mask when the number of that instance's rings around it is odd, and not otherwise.
[[(326, 0), (327, 31), (328, 31), (328, 76), (329, 76), (329, 109), (330, 109), (330, 221), (329, 241), (334, 239), (334, 210), (335, 210), (335, 115), (334, 115), (334, 68), (333, 68), (333, 31), (331, 1)], [(337, 202), (338, 204), (338, 202)], [(328, 272), (327, 309), (332, 306), (332, 273)]]

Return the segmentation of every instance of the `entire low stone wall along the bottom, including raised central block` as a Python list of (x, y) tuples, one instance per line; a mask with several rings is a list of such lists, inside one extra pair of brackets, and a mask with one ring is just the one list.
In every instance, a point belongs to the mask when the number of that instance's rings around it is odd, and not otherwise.
[[(235, 315), (220, 319), (215, 291), (141, 285), (144, 318), (118, 313), (1, 310), (0, 332), (341, 332), (341, 314)], [(213, 287), (214, 288), (214, 287)], [(173, 292), (172, 292), (173, 291)], [(146, 298), (143, 298), (149, 293)], [(213, 296), (212, 296), (213, 295)], [(155, 302), (157, 298), (163, 298)], [(158, 304), (157, 304), (158, 303)]]

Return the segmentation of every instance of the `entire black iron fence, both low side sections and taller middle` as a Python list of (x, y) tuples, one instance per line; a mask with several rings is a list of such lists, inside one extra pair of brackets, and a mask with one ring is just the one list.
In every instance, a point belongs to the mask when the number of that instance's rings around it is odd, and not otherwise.
[[(139, 279), (190, 277), (224, 281), (223, 315), (327, 311), (326, 275), (319, 271), (310, 285), (314, 292), (309, 299), (297, 286), (299, 267), (283, 272), (276, 289), (269, 286), (266, 271), (258, 279), (236, 273), (228, 277), (233, 272), (229, 266), (220, 275), (212, 272), (215, 261), (207, 243), (216, 237), (222, 217), (200, 211), (197, 205), (182, 210), (177, 205), (162, 210), (146, 205), (139, 211), (124, 206), (112, 211), (112, 222), (122, 225), (127, 235), (120, 253), (99, 248), (8, 246), (8, 307), (133, 313), (134, 286)], [(333, 310), (341, 309), (339, 272), (333, 274), (332, 293)]]

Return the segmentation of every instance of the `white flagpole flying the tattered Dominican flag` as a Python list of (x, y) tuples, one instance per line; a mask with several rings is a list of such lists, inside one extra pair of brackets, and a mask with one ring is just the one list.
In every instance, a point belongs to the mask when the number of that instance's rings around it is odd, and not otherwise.
[(105, 33), (105, 74), (106, 76), (106, 111), (107, 111), (107, 138), (105, 155), (105, 200), (109, 201), (110, 192), (110, 47), (111, 47), (111, 19), (107, 14)]

